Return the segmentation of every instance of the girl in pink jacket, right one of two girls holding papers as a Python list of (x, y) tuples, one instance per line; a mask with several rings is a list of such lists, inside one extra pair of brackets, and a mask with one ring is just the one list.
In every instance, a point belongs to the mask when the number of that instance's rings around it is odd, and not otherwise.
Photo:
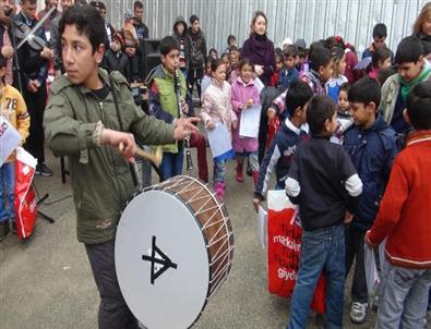
[(238, 65), (239, 76), (232, 83), (232, 108), (237, 113), (238, 126), (234, 130), (234, 150), (237, 154), (237, 182), (243, 182), (244, 158), (249, 159), (254, 185), (258, 184), (259, 160), (258, 160), (258, 137), (242, 137), (239, 134), (241, 125), (241, 112), (247, 111), (253, 105), (260, 103), (259, 89), (254, 85), (254, 65), (248, 58), (243, 58)]

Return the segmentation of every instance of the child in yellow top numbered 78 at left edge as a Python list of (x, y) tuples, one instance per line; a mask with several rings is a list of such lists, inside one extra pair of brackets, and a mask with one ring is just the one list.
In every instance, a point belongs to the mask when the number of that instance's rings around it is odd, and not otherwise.
[[(0, 115), (8, 120), (20, 133), (22, 142), (28, 137), (29, 115), (20, 92), (5, 82), (7, 60), (0, 56)], [(9, 231), (16, 232), (15, 223), (15, 153), (0, 167), (0, 240)]]

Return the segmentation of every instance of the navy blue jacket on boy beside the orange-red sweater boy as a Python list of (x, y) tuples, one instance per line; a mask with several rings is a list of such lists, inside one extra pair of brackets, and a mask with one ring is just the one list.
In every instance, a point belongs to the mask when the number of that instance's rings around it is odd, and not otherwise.
[(378, 115), (374, 124), (363, 130), (352, 125), (344, 135), (344, 147), (362, 181), (363, 190), (352, 224), (360, 230), (371, 228), (398, 153), (395, 131)]

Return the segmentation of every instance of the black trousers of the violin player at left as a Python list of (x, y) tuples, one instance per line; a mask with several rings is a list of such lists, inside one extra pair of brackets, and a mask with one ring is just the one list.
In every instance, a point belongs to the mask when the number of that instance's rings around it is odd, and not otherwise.
[(37, 159), (38, 163), (45, 162), (45, 134), (44, 113), (47, 101), (47, 86), (44, 83), (36, 93), (31, 93), (23, 86), (23, 97), (29, 114), (29, 135), (24, 148)]

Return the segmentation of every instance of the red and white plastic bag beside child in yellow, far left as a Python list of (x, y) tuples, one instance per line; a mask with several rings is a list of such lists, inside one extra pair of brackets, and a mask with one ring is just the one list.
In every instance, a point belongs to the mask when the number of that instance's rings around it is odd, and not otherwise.
[(37, 217), (37, 203), (32, 187), (37, 160), (24, 148), (16, 148), (15, 160), (15, 221), (21, 240), (32, 235)]

